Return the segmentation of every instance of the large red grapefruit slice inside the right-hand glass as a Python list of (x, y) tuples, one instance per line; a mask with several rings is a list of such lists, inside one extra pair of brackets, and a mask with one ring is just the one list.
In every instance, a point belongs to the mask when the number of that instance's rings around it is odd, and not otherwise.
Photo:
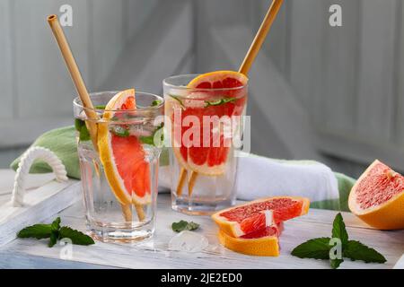
[[(241, 116), (247, 100), (247, 94), (244, 89), (236, 89), (246, 86), (248, 78), (240, 73), (233, 71), (217, 71), (208, 74), (201, 74), (192, 80), (188, 88), (200, 89), (194, 93), (189, 93), (185, 97), (178, 97), (182, 105), (181, 123), (180, 123), (180, 144), (173, 144), (173, 152), (182, 167), (207, 176), (218, 176), (224, 173), (227, 154), (230, 149), (228, 138), (224, 138), (223, 132), (219, 130), (219, 140), (213, 144), (213, 139), (217, 137), (214, 133), (214, 126), (209, 127), (210, 144), (203, 146), (204, 116), (233, 117)], [(233, 89), (234, 88), (234, 89)], [(226, 89), (226, 90), (220, 90)], [(209, 91), (212, 90), (212, 91)], [(184, 143), (184, 134), (189, 130), (189, 126), (183, 124), (186, 117), (198, 117), (200, 146), (194, 146), (192, 143)], [(172, 126), (175, 122), (173, 115), (171, 118)], [(194, 141), (193, 138), (190, 138)], [(231, 140), (231, 139), (230, 139)], [(179, 146), (180, 147), (176, 147)]]

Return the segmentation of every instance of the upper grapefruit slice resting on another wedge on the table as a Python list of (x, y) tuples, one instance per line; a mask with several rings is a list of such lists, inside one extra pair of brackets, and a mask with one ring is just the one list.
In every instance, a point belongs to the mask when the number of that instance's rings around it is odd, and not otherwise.
[(308, 213), (310, 201), (298, 196), (268, 197), (234, 206), (212, 215), (219, 229), (233, 238), (265, 230), (268, 226)]

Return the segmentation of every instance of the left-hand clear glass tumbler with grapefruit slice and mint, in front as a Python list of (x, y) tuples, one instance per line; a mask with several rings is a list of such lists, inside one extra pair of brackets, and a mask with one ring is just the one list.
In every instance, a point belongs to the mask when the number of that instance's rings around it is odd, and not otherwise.
[(94, 239), (130, 242), (154, 234), (161, 152), (154, 139), (162, 130), (163, 99), (136, 92), (132, 106), (106, 110), (116, 94), (90, 95), (97, 119), (75, 99), (75, 129), (87, 228)]

